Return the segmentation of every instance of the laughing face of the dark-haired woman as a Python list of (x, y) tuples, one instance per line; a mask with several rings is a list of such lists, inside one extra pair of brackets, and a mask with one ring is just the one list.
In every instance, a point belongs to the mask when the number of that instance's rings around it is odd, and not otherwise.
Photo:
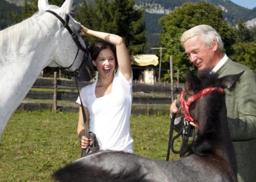
[(93, 65), (97, 67), (99, 75), (103, 78), (113, 76), (115, 70), (115, 55), (111, 49), (103, 49), (99, 52), (96, 60), (93, 60)]

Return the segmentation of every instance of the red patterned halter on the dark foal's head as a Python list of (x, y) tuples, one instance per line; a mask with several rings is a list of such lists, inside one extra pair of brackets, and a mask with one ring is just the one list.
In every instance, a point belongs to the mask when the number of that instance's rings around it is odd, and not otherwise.
[(218, 92), (224, 92), (224, 90), (221, 87), (209, 87), (209, 88), (201, 90), (201, 91), (197, 92), (196, 94), (190, 96), (187, 99), (187, 101), (185, 101), (185, 98), (184, 98), (185, 92), (183, 90), (181, 92), (180, 101), (182, 104), (183, 113), (185, 114), (185, 120), (196, 124), (197, 129), (199, 129), (199, 125), (198, 125), (198, 122), (196, 120), (194, 120), (194, 118), (192, 118), (192, 116), (190, 115), (190, 105), (194, 101), (197, 101), (199, 98), (201, 98), (201, 96), (207, 95), (208, 93), (212, 93), (215, 90), (217, 90)]

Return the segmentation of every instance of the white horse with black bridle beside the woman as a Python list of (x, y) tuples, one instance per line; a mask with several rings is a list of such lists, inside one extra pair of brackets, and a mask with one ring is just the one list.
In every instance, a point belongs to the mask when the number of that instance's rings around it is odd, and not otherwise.
[[(68, 15), (73, 5), (66, 0), (62, 7), (38, 0), (38, 12), (30, 18), (0, 31), (0, 137), (12, 113), (23, 101), (41, 70), (46, 66), (77, 70), (85, 47), (80, 24)], [(77, 35), (75, 43), (62, 22), (46, 10), (65, 19)]]

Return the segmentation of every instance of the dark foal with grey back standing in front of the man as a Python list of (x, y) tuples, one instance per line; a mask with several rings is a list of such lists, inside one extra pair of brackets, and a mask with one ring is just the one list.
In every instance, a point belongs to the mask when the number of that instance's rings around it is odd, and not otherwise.
[(105, 151), (80, 158), (57, 170), (57, 181), (237, 181), (236, 159), (227, 125), (225, 95), (241, 74), (217, 78), (215, 74), (187, 72), (185, 98), (205, 88), (217, 88), (190, 106), (199, 126), (190, 152), (177, 161)]

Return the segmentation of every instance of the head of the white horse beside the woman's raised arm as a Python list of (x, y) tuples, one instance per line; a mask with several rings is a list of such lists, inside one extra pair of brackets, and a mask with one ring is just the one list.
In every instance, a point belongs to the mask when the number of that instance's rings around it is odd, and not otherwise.
[[(54, 50), (52, 50), (53, 52), (51, 52), (50, 60), (46, 66), (64, 67), (71, 72), (79, 68), (86, 53), (85, 42), (80, 36), (80, 23), (69, 15), (72, 6), (73, 0), (66, 0), (62, 7), (49, 5), (48, 0), (38, 0), (38, 13), (41, 15), (45, 13), (48, 18), (47, 21), (55, 22), (59, 27), (57, 30), (54, 29), (55, 41), (52, 42)], [(59, 15), (59, 18), (46, 12), (49, 10), (56, 13), (57, 16)], [(69, 21), (66, 21), (67, 18), (69, 18)], [(65, 23), (68, 23), (68, 27), (65, 27), (60, 19), (66, 21)], [(76, 36), (76, 39), (74, 39), (74, 36)]]

